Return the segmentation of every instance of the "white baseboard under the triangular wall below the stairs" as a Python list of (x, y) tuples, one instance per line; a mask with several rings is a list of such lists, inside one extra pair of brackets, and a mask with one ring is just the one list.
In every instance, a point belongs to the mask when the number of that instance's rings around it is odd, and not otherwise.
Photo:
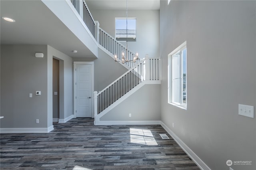
[(161, 121), (99, 121), (95, 125), (161, 125)]

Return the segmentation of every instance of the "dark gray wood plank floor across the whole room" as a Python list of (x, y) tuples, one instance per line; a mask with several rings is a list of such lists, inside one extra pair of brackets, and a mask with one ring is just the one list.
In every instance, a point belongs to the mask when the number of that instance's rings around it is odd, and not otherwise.
[[(160, 125), (94, 126), (93, 121), (54, 123), (48, 134), (1, 134), (0, 169), (199, 169)], [(170, 139), (162, 139), (163, 133)]]

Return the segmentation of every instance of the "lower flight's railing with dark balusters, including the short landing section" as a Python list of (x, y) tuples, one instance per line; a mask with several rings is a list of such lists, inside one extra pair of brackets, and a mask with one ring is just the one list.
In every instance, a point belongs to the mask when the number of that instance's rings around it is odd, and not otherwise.
[(98, 115), (142, 81), (159, 81), (159, 59), (142, 59), (102, 91), (94, 91), (94, 115)]

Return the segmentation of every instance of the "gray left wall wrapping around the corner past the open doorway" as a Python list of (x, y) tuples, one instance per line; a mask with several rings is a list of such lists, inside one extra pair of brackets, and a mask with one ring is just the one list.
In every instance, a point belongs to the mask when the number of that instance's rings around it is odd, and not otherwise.
[[(35, 52), (44, 57), (36, 58)], [(1, 128), (52, 126), (53, 57), (60, 60), (60, 119), (73, 114), (71, 57), (49, 45), (1, 45)], [(36, 91), (42, 95), (36, 96)]]

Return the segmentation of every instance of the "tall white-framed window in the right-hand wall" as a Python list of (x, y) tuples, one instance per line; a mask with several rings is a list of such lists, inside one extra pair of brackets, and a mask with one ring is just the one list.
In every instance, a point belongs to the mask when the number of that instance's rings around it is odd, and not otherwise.
[(168, 102), (187, 107), (187, 48), (182, 43), (168, 55)]

